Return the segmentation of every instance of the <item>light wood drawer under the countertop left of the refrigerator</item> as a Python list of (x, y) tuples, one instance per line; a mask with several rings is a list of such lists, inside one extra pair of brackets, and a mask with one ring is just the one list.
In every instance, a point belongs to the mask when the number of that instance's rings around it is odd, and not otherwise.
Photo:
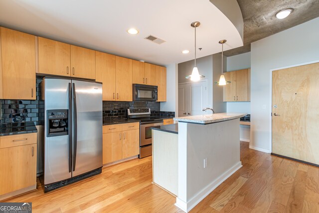
[(36, 133), (22, 135), (8, 135), (0, 137), (0, 148), (16, 147), (27, 144), (36, 144)]

